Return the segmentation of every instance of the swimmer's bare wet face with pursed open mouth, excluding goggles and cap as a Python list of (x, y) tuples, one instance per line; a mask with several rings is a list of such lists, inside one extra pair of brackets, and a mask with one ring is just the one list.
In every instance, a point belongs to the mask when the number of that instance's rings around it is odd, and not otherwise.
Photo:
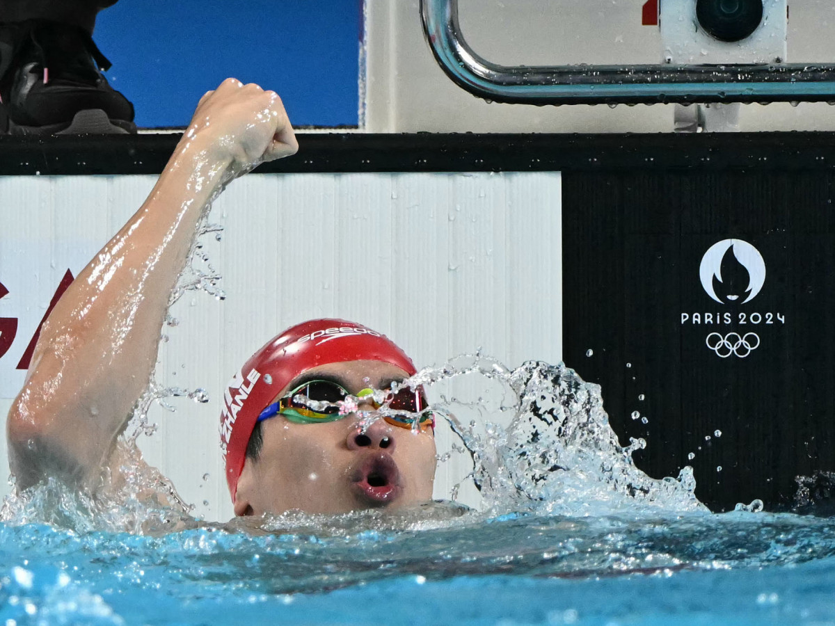
[[(349, 393), (387, 389), (407, 373), (381, 361), (349, 361), (304, 373), (338, 382)], [(277, 397), (289, 393), (291, 382)], [(372, 406), (360, 405), (361, 411)], [(435, 440), (431, 429), (410, 430), (374, 420), (363, 433), (356, 414), (336, 422), (297, 424), (277, 415), (261, 422), (263, 447), (248, 458), (235, 495), (236, 515), (292, 509), (339, 513), (401, 508), (432, 499)]]

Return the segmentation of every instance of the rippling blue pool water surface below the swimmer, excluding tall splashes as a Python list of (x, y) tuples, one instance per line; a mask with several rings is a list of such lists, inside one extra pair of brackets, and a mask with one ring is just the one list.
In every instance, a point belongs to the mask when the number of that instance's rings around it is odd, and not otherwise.
[(835, 623), (827, 518), (416, 519), (4, 524), (0, 623)]

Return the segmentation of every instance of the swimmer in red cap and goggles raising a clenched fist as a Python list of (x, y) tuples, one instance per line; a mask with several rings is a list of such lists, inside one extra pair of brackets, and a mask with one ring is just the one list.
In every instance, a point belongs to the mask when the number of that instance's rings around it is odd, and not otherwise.
[[(117, 439), (149, 384), (201, 215), (226, 181), (297, 149), (276, 93), (230, 78), (200, 99), (148, 199), (43, 325), (8, 416), (18, 488), (57, 477), (96, 492), (103, 476), (119, 480)], [(397, 387), (414, 373), (392, 341), (352, 322), (310, 321), (268, 342), (224, 393), (235, 515), (428, 502), (433, 416), (423, 391)]]

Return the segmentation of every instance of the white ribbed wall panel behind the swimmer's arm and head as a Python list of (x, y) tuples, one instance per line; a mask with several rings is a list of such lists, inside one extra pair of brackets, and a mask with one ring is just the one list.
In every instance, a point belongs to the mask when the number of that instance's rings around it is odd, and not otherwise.
[[(15, 366), (64, 273), (78, 275), (154, 180), (0, 178), (0, 283), (9, 292), (0, 318), (18, 319), (0, 358), (3, 420), (23, 385)], [(509, 366), (562, 356), (559, 173), (251, 174), (230, 185), (210, 222), (225, 227), (220, 241), (201, 241), (226, 299), (186, 293), (172, 309), (179, 323), (163, 329), (157, 368), (160, 385), (205, 388), (210, 402), (155, 405), (158, 431), (140, 438), (148, 461), (207, 519), (232, 516), (217, 446), (220, 389), (286, 326), (360, 321), (418, 366), (478, 348)], [(454, 465), (438, 468), (437, 497), (466, 473)]]

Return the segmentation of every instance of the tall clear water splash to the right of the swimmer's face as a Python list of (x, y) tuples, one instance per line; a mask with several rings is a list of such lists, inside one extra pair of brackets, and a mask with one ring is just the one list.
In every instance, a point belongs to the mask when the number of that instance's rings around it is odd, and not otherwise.
[[(706, 512), (694, 494), (691, 467), (677, 478), (662, 480), (641, 472), (632, 453), (645, 447), (645, 441), (630, 439), (628, 446), (620, 446), (603, 410), (600, 386), (584, 382), (564, 365), (529, 361), (509, 371), (475, 354), (418, 372), (410, 382), (432, 386), (471, 375), (498, 383), (493, 406), (479, 396), (471, 401), (450, 398), (434, 408), (473, 457), (470, 479), (480, 491), (483, 511)], [(473, 410), (477, 415), (465, 423), (463, 414)], [(502, 416), (507, 426), (497, 423)]]

